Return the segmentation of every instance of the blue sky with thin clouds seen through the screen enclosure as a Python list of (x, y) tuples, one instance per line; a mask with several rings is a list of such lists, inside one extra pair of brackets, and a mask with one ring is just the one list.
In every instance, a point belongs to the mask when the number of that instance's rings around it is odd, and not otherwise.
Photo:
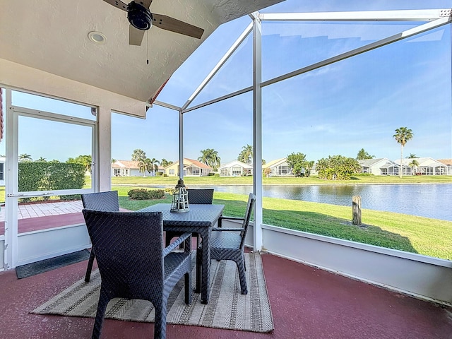
[[(451, 8), (450, 1), (325, 1), (286, 0), (263, 13), (372, 11)], [(226, 23), (174, 73), (157, 100), (181, 107), (218, 63), (234, 40), (251, 23), (249, 17)], [(262, 78), (275, 78), (303, 66), (398, 34), (420, 23), (290, 23), (263, 22)], [(252, 84), (252, 36), (246, 38), (191, 106)], [(451, 25), (380, 49), (323, 66), (262, 92), (263, 158), (269, 162), (290, 153), (307, 160), (329, 155), (356, 157), (364, 148), (375, 157), (400, 158), (393, 139), (401, 126), (414, 137), (406, 155), (452, 158)], [(26, 103), (25, 103), (26, 102)], [(16, 94), (14, 105), (61, 110), (94, 117), (88, 107), (61, 105), (42, 98)], [(54, 112), (54, 111), (51, 111)], [(77, 112), (77, 113), (74, 113)], [(82, 112), (82, 113), (80, 113)], [(184, 114), (184, 156), (197, 159), (201, 150), (217, 150), (224, 164), (237, 159), (253, 143), (252, 93), (208, 105)], [(141, 148), (150, 158), (175, 161), (179, 148), (178, 112), (153, 105), (146, 119), (113, 114), (112, 157), (130, 160)], [(90, 153), (90, 127), (61, 130), (42, 150), (33, 138), (35, 124), (24, 119), (19, 154), (33, 159), (66, 160)], [(68, 136), (85, 133), (87, 142), (71, 145)], [(47, 136), (50, 134), (42, 133)], [(40, 139), (42, 140), (42, 138)], [(45, 138), (44, 138), (45, 140)], [(39, 147), (38, 147), (39, 146)], [(37, 149), (41, 150), (37, 150)], [(0, 143), (4, 154), (4, 142)], [(38, 152), (42, 154), (38, 154)]]

